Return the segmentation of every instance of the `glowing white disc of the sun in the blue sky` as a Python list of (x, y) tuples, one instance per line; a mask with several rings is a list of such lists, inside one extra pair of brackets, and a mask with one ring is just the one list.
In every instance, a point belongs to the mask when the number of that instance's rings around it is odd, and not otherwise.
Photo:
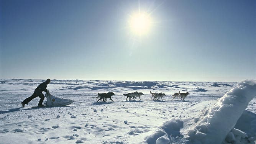
[(152, 26), (152, 20), (147, 13), (134, 13), (130, 16), (129, 26), (133, 33), (144, 35), (147, 34)]

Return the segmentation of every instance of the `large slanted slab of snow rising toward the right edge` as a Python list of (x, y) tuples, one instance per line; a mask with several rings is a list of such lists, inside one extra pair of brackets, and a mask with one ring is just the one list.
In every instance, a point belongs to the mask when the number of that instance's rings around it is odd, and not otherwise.
[[(238, 83), (235, 88), (218, 99), (215, 105), (202, 111), (197, 124), (188, 131), (190, 141), (196, 144), (221, 144), (227, 135), (229, 140), (233, 140), (233, 132), (236, 131), (233, 128), (255, 96), (255, 80)], [(238, 137), (241, 136), (241, 133), (236, 134)]]

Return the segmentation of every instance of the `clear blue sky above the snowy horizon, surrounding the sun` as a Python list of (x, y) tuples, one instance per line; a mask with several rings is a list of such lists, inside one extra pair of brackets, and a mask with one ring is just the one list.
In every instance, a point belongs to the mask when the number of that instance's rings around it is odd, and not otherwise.
[(256, 1), (0, 0), (0, 78), (256, 79)]

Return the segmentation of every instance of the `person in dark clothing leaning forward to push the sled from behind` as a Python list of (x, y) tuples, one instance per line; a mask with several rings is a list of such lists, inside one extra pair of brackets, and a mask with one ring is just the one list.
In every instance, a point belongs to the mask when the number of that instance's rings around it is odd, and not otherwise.
[(40, 85), (38, 85), (38, 87), (34, 90), (34, 93), (33, 95), (31, 95), (30, 97), (26, 98), (23, 102), (21, 102), (21, 105), (22, 107), (24, 108), (25, 107), (25, 104), (28, 105), (28, 103), (33, 100), (34, 98), (36, 97), (39, 97), (40, 100), (39, 100), (39, 103), (38, 103), (38, 106), (44, 106), (43, 105), (43, 101), (44, 101), (44, 94), (43, 94), (43, 91), (44, 92), (49, 92), (46, 87), (47, 85), (51, 82), (50, 79), (47, 79), (45, 82), (41, 83)]

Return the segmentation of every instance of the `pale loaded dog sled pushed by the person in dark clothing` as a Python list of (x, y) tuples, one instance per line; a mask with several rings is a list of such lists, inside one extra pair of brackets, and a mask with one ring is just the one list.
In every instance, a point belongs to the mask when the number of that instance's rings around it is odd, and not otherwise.
[(46, 92), (45, 97), (47, 98), (44, 102), (45, 106), (66, 106), (74, 102), (74, 100), (54, 97), (49, 92)]

